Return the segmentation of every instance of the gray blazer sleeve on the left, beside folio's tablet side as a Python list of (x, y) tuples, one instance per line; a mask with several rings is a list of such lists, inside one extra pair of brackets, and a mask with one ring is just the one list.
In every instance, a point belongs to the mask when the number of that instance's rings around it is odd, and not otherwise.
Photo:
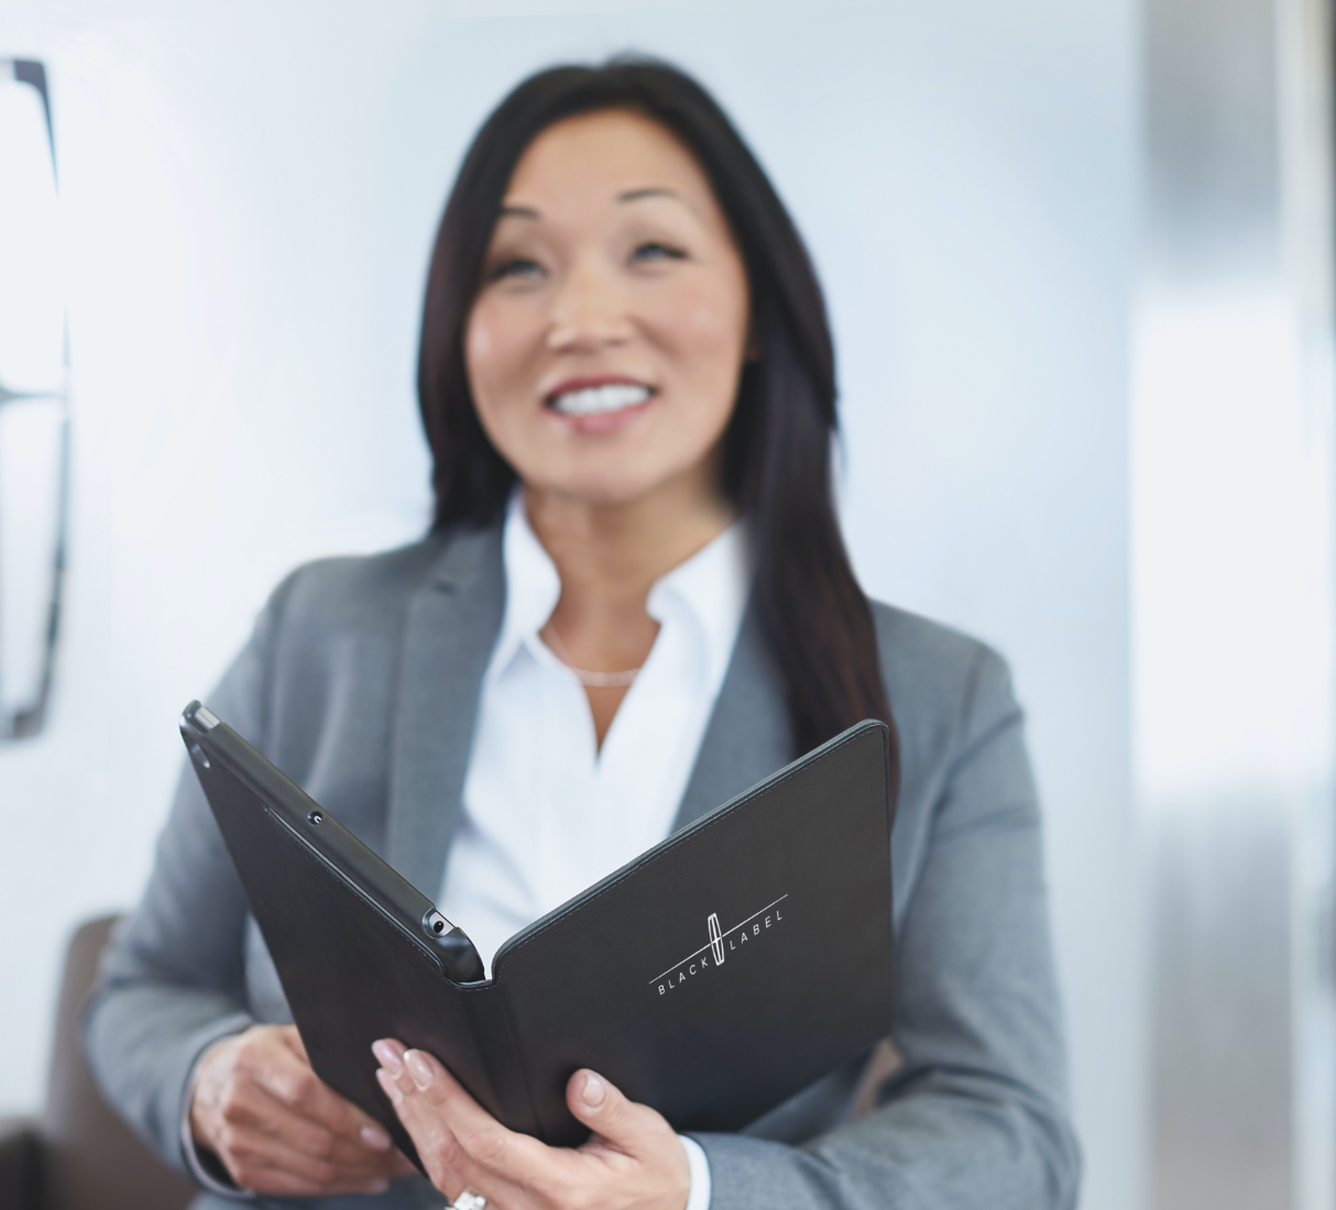
[[(271, 650), (291, 578), (210, 694), (212, 709), (263, 747)], [(170, 1163), (186, 1167), (184, 1096), (203, 1051), (251, 1024), (246, 1003), (246, 895), (208, 801), (187, 764), (159, 836), (148, 885), (103, 956), (84, 1018), (107, 1099)]]

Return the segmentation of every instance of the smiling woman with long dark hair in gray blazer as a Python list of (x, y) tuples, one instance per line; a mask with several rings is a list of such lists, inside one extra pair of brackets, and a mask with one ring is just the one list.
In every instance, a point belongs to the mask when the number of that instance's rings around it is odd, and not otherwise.
[[(736, 1135), (589, 1071), (577, 1150), (377, 1043), (437, 1189), (528, 1207), (1070, 1206), (1039, 820), (1002, 662), (870, 605), (835, 521), (834, 355), (782, 203), (656, 63), (558, 68), (478, 134), (428, 282), (437, 521), (275, 592), (211, 705), (490, 960), (509, 934), (864, 717), (899, 740), (887, 1047)], [(218, 1197), (440, 1205), (310, 1072), (194, 779), (88, 1024)], [(206, 1202), (207, 1205), (207, 1202)]]

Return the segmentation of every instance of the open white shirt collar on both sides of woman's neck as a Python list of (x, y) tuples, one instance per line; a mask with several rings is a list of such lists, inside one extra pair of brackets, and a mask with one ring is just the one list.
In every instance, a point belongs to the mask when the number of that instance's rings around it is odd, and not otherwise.
[[(552, 556), (529, 525), (524, 490), (510, 494), (501, 538), (506, 596), (501, 633), (488, 669), (500, 676), (524, 645), (537, 645), (538, 632), (561, 597), (561, 577)], [(660, 625), (681, 620), (695, 630), (704, 656), (705, 684), (716, 689), (732, 657), (747, 605), (747, 549), (743, 524), (735, 521), (685, 562), (655, 581), (647, 610)], [(546, 650), (544, 649), (544, 654)]]

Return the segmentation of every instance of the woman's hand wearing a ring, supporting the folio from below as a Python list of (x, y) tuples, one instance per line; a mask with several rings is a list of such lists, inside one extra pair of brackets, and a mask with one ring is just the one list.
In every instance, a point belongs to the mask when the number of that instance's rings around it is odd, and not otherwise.
[(490, 1210), (683, 1210), (691, 1167), (673, 1129), (592, 1071), (566, 1084), (566, 1104), (593, 1137), (549, 1147), (506, 1130), (432, 1055), (393, 1039), (371, 1050), (377, 1078), (413, 1135), (432, 1183), (450, 1201), (469, 1187)]

